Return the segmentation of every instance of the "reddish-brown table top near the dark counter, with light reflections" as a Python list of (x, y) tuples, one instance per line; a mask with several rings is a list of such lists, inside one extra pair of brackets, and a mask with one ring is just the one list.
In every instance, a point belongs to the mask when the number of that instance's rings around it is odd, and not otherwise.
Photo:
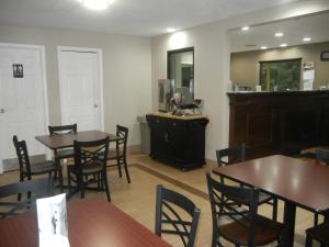
[(225, 167), (213, 172), (259, 188), (308, 210), (329, 209), (329, 168), (274, 155)]

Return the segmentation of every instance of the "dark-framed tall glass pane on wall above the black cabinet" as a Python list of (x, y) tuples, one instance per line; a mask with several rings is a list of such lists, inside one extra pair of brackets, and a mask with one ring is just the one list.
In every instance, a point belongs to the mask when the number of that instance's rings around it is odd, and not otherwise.
[(194, 100), (194, 47), (168, 50), (167, 78), (172, 80), (173, 92), (180, 104)]

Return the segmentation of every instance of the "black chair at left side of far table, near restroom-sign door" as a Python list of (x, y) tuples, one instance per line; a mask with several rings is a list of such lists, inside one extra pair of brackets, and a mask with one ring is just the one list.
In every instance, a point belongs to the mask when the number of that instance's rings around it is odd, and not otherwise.
[[(19, 141), (18, 136), (13, 136), (13, 144), (16, 150), (19, 165), (20, 165), (20, 181), (31, 180), (33, 176), (59, 172), (59, 187), (63, 188), (63, 173), (60, 167), (55, 162), (45, 160), (38, 162), (30, 162), (30, 157), (27, 153), (27, 146), (25, 141)], [(20, 200), (20, 194), (19, 194)]]

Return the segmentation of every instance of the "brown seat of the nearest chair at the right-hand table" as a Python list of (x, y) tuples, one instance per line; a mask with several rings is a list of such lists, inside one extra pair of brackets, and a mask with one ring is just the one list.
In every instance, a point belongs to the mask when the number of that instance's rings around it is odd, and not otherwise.
[[(254, 231), (254, 245), (261, 246), (269, 244), (275, 239), (279, 239), (283, 225), (279, 222), (270, 218), (257, 215), (257, 225)], [(220, 225), (220, 236), (232, 243), (239, 243), (239, 245), (248, 245), (249, 228), (241, 225), (249, 225), (249, 221), (246, 218), (239, 220), (239, 222), (231, 222), (225, 225)]]

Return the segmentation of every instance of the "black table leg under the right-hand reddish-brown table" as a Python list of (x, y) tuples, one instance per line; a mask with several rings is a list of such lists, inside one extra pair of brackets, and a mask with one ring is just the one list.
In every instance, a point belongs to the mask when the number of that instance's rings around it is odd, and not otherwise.
[(284, 234), (282, 244), (284, 247), (294, 246), (294, 236), (295, 236), (295, 220), (296, 220), (296, 205), (292, 202), (284, 203)]

